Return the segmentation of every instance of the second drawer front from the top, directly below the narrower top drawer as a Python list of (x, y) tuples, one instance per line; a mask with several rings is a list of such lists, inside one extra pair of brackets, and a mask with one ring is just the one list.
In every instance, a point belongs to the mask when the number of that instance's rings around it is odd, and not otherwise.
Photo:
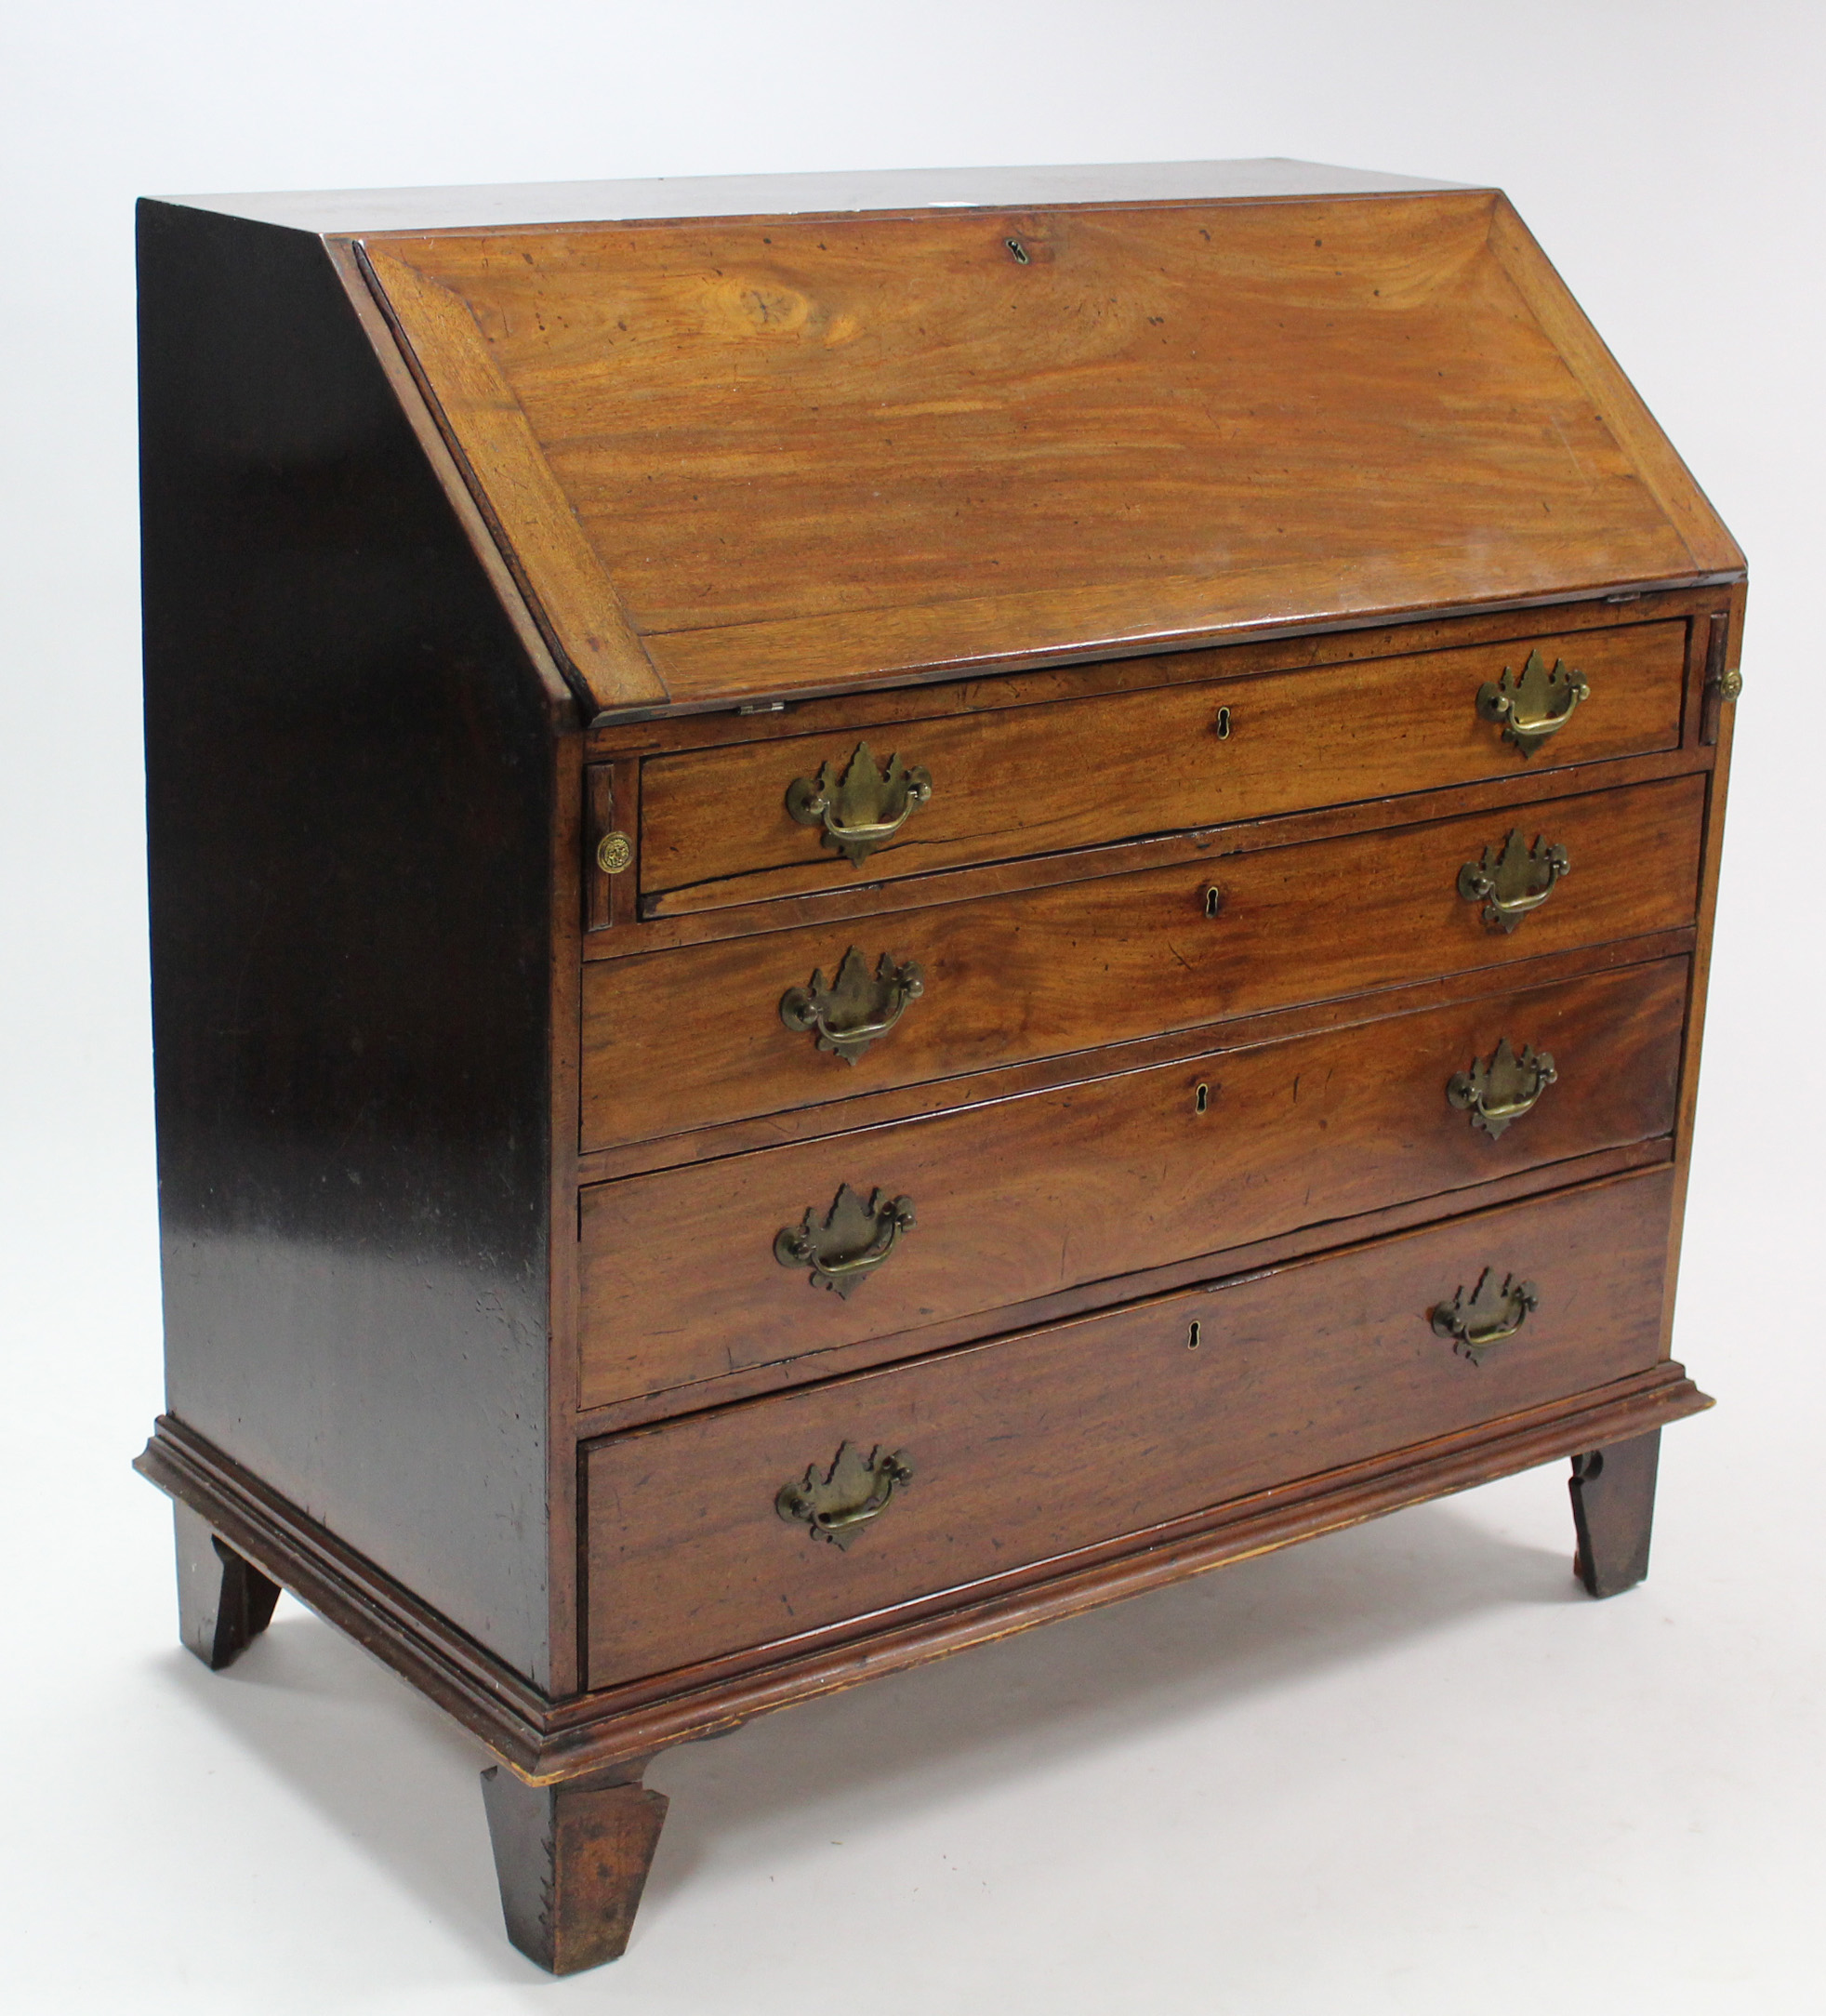
[[(947, 1079), (1227, 1016), (1403, 986), (1693, 921), (1705, 778), (1586, 792), (1510, 812), (1358, 833), (1141, 875), (935, 903), (885, 917), (591, 962), (582, 1147)], [(1508, 833), (1566, 849), (1570, 873), (1514, 929), (1459, 895)], [(1211, 887), (1217, 913), (1207, 915)], [(826, 1014), (893, 1026), (855, 1062), (782, 1002), (871, 986)], [(889, 970), (921, 970), (905, 998)]]

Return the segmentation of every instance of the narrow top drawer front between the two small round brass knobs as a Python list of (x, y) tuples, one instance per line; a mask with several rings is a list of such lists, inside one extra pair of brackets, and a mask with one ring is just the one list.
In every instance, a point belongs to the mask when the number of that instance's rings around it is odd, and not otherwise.
[[(1534, 653), (1588, 698), (1524, 754), (1491, 708), (1479, 714), (1479, 691), (1522, 677)], [(1667, 750), (1685, 653), (1685, 621), (1639, 623), (657, 756), (641, 776), (641, 887), (653, 909), (701, 909)], [(1530, 687), (1512, 712), (1554, 718), (1564, 704), (1564, 685)], [(844, 804), (830, 802), (840, 833), (828, 833), (812, 810), (818, 780), (846, 782), (863, 742), (869, 758)], [(891, 756), (925, 772), (923, 802), (893, 786)], [(871, 766), (883, 780), (873, 804)], [(812, 786), (796, 796), (802, 816), (788, 808), (798, 780)], [(897, 818), (893, 835), (838, 849), (842, 833)]]

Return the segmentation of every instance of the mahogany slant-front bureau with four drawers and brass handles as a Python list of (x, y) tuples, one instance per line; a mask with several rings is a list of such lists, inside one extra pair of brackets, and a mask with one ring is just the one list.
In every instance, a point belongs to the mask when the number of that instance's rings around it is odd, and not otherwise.
[(149, 202), (181, 1629), (619, 1954), (655, 1752), (1572, 1458), (1647, 1566), (1743, 558), (1510, 204)]

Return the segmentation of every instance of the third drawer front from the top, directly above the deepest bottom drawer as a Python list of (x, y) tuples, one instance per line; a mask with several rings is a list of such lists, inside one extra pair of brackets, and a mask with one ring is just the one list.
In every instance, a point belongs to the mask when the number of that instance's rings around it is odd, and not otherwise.
[[(582, 1403), (1663, 1135), (1685, 1000), (1687, 962), (1663, 960), (597, 1185), (582, 1193)], [(1504, 1042), (1514, 1068), (1495, 1064)], [(1530, 1050), (1550, 1054), (1554, 1083)], [(782, 1232), (816, 1252), (782, 1258)], [(844, 1272), (875, 1246), (879, 1264)]]

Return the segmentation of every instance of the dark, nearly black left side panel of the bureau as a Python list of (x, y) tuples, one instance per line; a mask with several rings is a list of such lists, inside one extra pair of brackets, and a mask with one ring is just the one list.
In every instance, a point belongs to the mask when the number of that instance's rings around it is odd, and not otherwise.
[(141, 210), (171, 1413), (544, 1681), (552, 744), (324, 248)]

